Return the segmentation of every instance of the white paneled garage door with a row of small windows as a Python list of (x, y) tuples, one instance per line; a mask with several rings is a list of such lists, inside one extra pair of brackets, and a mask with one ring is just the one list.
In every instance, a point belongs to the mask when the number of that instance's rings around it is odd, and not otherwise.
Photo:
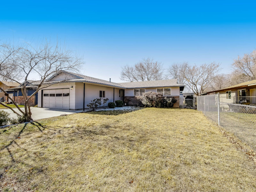
[(69, 109), (69, 89), (43, 90), (43, 108)]

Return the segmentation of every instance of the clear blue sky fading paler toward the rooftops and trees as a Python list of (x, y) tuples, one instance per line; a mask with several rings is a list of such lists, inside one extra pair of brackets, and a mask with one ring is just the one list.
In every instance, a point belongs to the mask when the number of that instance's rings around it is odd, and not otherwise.
[(220, 62), (256, 49), (256, 1), (7, 1), (0, 40), (65, 41), (84, 55), (84, 75), (120, 82), (121, 66), (141, 58)]

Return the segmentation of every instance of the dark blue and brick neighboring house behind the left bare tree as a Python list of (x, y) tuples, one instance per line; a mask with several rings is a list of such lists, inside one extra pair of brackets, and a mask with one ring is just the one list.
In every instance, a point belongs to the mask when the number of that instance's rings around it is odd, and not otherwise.
[[(27, 81), (27, 95), (31, 96), (36, 88), (37, 85), (35, 85), (37, 82), (33, 81), (33, 80), (28, 80)], [(23, 83), (24, 85), (24, 83)], [(5, 91), (9, 94), (9, 96), (12, 97), (12, 99), (19, 105), (24, 105), (25, 104), (25, 100), (24, 97), (22, 95), (21, 92), (21, 85), (16, 86), (16, 87), (12, 87), (9, 89), (6, 89)], [(6, 97), (6, 101), (8, 101), (8, 98)], [(9, 102), (11, 102), (11, 100), (9, 100)], [(30, 100), (29, 103), (30, 105), (37, 105), (38, 102), (38, 93), (36, 93)]]

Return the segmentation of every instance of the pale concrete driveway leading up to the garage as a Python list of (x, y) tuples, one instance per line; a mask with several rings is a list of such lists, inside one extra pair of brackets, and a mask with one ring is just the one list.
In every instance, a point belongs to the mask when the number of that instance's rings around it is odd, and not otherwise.
[[(24, 108), (21, 108), (24, 110)], [(17, 115), (12, 112), (11, 109), (1, 109), (3, 111), (7, 111), (8, 113), (11, 113), (10, 117), (17, 118)], [(20, 111), (15, 108), (14, 109), (16, 112), (19, 114)], [(88, 109), (87, 109), (88, 110)], [(83, 110), (68, 110), (68, 109), (51, 109), (51, 108), (37, 108), (37, 107), (31, 107), (31, 112), (32, 112), (32, 118), (33, 120), (38, 120), (38, 119), (45, 119), (49, 117), (56, 117), (60, 116), (63, 114), (73, 114), (73, 113), (79, 113), (82, 112)]]

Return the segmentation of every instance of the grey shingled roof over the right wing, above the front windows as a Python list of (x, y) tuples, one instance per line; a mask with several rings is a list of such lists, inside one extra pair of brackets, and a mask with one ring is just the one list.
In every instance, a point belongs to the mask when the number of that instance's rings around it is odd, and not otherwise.
[(156, 81), (138, 81), (119, 83), (126, 88), (149, 88), (149, 87), (184, 87), (185, 85), (178, 84), (177, 79), (156, 80)]

